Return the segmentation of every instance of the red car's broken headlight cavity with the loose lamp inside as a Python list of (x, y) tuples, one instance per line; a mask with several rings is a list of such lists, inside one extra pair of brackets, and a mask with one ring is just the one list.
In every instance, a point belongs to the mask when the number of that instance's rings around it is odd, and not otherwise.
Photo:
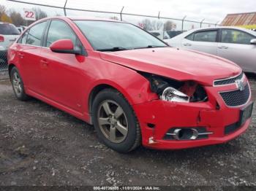
[(203, 102), (208, 100), (206, 90), (203, 86), (194, 81), (177, 81), (167, 77), (160, 77), (154, 74), (139, 72), (150, 82), (152, 92), (159, 95), (163, 101), (176, 102)]

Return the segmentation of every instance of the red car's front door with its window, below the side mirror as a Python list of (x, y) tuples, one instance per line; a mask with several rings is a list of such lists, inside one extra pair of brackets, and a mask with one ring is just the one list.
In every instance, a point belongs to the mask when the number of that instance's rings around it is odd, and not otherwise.
[(46, 38), (45, 48), (41, 52), (44, 63), (44, 95), (75, 112), (82, 112), (84, 95), (84, 70), (86, 57), (69, 53), (58, 53), (50, 50), (50, 44), (59, 39), (71, 39), (75, 46), (83, 48), (78, 37), (67, 23), (52, 20)]

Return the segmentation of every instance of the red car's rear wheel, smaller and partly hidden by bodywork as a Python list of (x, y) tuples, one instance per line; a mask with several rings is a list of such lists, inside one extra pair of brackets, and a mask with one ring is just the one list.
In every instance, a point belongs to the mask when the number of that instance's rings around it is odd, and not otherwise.
[(16, 67), (13, 67), (10, 74), (12, 89), (16, 98), (20, 101), (26, 101), (29, 99), (29, 95), (26, 95), (23, 85), (23, 80), (20, 77), (20, 73)]

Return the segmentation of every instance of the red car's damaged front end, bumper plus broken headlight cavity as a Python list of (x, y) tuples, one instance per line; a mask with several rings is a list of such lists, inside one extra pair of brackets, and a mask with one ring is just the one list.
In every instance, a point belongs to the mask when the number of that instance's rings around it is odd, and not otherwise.
[[(140, 75), (148, 79), (148, 88), (157, 95), (133, 106), (145, 147), (182, 149), (220, 144), (249, 127), (249, 118), (239, 123), (244, 106), (227, 106), (220, 95), (223, 91), (232, 93), (237, 89), (235, 84), (214, 87), (145, 72)], [(236, 130), (227, 133), (231, 128)]]

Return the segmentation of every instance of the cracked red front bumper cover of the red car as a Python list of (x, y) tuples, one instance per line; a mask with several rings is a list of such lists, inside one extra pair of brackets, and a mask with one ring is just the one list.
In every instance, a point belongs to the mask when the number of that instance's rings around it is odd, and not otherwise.
[[(247, 83), (247, 80), (246, 80)], [(236, 90), (236, 85), (205, 87), (208, 101), (203, 103), (174, 103), (167, 101), (150, 101), (134, 105), (140, 122), (142, 143), (144, 147), (154, 149), (184, 149), (210, 144), (221, 144), (235, 139), (249, 127), (251, 119), (225, 133), (225, 127), (235, 124), (240, 119), (241, 109), (252, 102), (251, 96), (242, 106), (226, 106), (219, 92)], [(217, 105), (219, 106), (217, 108)], [(206, 139), (167, 140), (165, 135), (170, 128), (206, 128), (211, 134)]]

